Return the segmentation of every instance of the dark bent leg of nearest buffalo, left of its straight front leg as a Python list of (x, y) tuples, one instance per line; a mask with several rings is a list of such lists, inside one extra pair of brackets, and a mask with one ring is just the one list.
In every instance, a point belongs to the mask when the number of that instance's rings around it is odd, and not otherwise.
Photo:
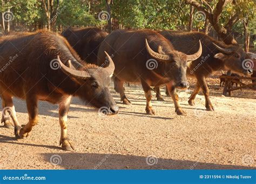
[(38, 123), (38, 100), (35, 96), (28, 94), (26, 96), (26, 107), (29, 113), (29, 122), (22, 126), (23, 128), (19, 131), (17, 138), (28, 137), (32, 130), (32, 127)]

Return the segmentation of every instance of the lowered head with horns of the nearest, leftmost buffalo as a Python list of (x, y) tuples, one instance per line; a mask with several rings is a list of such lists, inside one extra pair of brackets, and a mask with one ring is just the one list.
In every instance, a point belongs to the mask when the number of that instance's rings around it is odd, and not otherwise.
[[(105, 52), (106, 53), (106, 52)], [(110, 77), (114, 71), (114, 63), (109, 54), (106, 53), (107, 62), (109, 66), (103, 67), (83, 67), (76, 69), (71, 60), (68, 61), (68, 66), (64, 65), (59, 56), (57, 58), (60, 69), (67, 74), (78, 86), (78, 90), (75, 92), (75, 96), (78, 96), (82, 100), (89, 102), (89, 104), (95, 107), (107, 108), (104, 113), (117, 114), (118, 106), (116, 105), (111, 93), (109, 91)]]

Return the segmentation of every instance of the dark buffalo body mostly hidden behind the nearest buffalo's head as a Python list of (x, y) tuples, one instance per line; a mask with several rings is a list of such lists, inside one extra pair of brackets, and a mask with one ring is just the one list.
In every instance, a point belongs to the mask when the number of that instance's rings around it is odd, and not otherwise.
[(68, 28), (62, 32), (69, 44), (86, 63), (97, 64), (99, 45), (108, 35), (99, 28)]

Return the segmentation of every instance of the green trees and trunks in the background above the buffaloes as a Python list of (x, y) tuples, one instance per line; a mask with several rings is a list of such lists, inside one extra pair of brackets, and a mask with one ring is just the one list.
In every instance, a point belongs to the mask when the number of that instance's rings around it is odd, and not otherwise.
[[(61, 32), (69, 26), (97, 26), (109, 32), (115, 29), (196, 30), (215, 38), (219, 36), (226, 43), (236, 40), (244, 44), (245, 50), (249, 49), (249, 43), (251, 47), (256, 45), (255, 0), (1, 1), (2, 34), (38, 29)], [(6, 12), (11, 19), (6, 20)]]

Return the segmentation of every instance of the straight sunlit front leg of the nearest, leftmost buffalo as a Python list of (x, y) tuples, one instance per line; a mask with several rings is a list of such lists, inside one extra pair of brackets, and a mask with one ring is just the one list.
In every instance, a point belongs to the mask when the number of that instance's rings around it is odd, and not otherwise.
[(75, 149), (75, 146), (73, 146), (72, 142), (68, 138), (68, 112), (71, 98), (72, 97), (69, 96), (63, 100), (62, 103), (59, 103), (59, 125), (61, 130), (59, 145), (61, 145), (62, 149), (66, 151)]

